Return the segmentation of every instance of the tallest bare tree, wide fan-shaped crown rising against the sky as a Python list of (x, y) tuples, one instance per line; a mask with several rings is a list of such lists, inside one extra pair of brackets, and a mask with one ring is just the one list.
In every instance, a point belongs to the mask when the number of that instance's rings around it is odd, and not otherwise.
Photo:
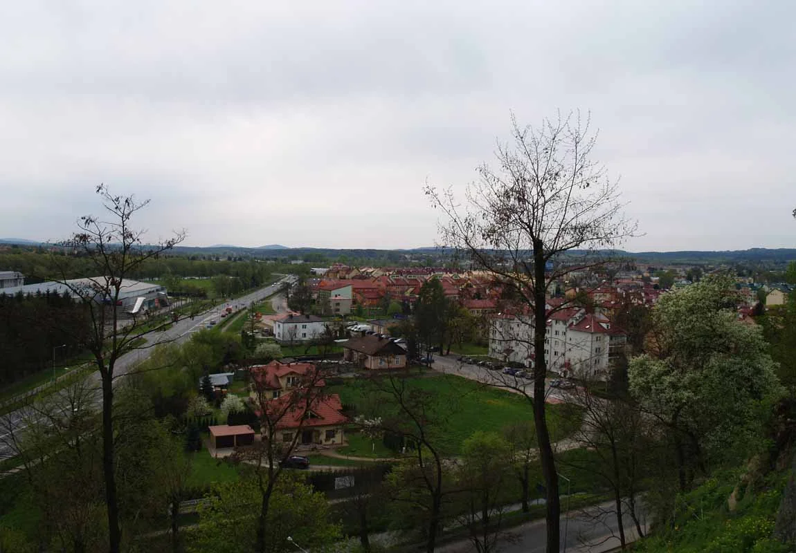
[[(634, 233), (622, 215), (615, 181), (591, 160), (596, 135), (579, 114), (522, 127), (512, 115), (512, 143), (498, 144), (494, 170), (478, 169), (466, 202), (454, 192), (427, 186), (431, 203), (446, 219), (442, 243), (469, 253), (474, 265), (490, 271), (517, 298), (520, 320), (532, 328), (533, 395), (544, 397), (548, 363), (544, 354), (548, 288), (576, 270), (603, 265), (600, 249)], [(565, 257), (564, 253), (572, 256)], [(540, 462), (547, 489), (547, 551), (559, 550), (558, 477), (545, 418), (544, 401), (533, 401)]]

